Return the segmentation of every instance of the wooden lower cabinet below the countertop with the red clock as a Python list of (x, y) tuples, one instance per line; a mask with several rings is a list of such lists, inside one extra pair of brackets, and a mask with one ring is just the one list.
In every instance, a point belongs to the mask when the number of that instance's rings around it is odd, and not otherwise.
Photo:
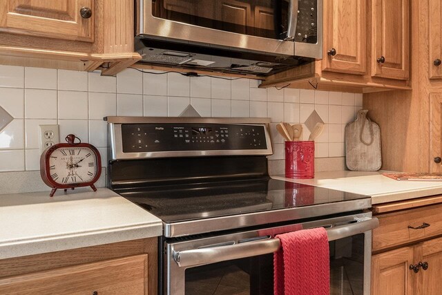
[(0, 260), (0, 294), (157, 294), (157, 238)]

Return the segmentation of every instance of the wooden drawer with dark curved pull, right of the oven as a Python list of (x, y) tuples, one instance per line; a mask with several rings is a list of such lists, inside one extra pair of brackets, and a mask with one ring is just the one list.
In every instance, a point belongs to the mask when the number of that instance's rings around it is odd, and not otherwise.
[(442, 234), (442, 205), (376, 217), (379, 227), (373, 230), (373, 251)]

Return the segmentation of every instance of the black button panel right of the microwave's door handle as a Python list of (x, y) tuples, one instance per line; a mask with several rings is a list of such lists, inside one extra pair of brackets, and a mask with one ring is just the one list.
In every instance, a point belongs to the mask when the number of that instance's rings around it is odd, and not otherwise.
[(318, 1), (299, 0), (295, 42), (316, 44), (318, 41)]

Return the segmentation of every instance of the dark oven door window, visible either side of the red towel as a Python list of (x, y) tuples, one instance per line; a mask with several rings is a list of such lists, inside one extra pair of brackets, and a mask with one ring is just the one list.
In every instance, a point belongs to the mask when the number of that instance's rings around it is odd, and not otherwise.
[[(329, 242), (329, 249), (330, 294), (363, 295), (364, 235)], [(186, 295), (273, 294), (273, 254), (186, 269), (185, 289)]]

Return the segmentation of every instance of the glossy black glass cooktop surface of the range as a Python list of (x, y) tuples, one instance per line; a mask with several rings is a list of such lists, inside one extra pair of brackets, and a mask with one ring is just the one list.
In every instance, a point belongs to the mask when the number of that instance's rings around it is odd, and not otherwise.
[(168, 223), (369, 198), (270, 178), (115, 191)]

